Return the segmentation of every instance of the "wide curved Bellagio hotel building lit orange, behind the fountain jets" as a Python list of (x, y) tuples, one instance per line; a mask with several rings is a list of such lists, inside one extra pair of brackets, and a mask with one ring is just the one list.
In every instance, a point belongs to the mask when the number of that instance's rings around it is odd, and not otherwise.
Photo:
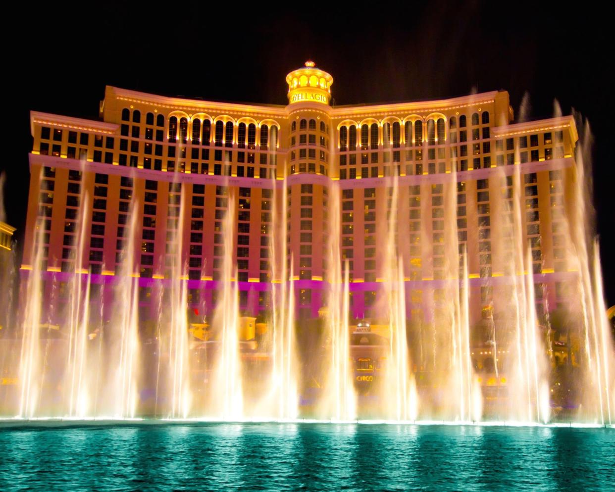
[[(506, 91), (335, 106), (333, 77), (312, 62), (286, 81), (285, 106), (106, 87), (96, 121), (32, 111), (23, 275), (31, 274), (33, 244), (41, 241), (46, 295), (61, 302), (74, 274), (91, 274), (92, 302), (104, 300), (113, 290), (106, 287), (121, 275), (132, 220), (138, 228), (132, 276), (138, 277), (140, 315), (147, 318), (173, 276), (170, 256), (182, 230), (189, 307), (209, 313), (221, 288), (229, 209), (236, 215), (232, 281), (242, 312), (268, 310), (272, 287), (290, 280), (298, 315), (317, 317), (327, 303), (328, 239), (339, 234), (351, 315), (378, 317), (396, 180), (395, 234), (408, 316), (429, 317), (433, 310), (424, 308), (442, 300), (445, 191), (456, 186), (456, 216), (448, 220), (456, 221), (459, 248), (467, 249), (475, 320), (505, 281), (509, 253), (498, 250), (496, 237), (506, 214), (494, 198), (510, 197), (516, 175), (538, 309), (561, 302), (568, 272), (560, 219), (577, 141), (572, 117), (514, 123)], [(274, 197), (282, 193), (285, 207), (276, 207)], [(334, 199), (339, 206), (332, 206)], [(340, 215), (335, 222), (331, 213)], [(287, 232), (288, 264), (293, 258), (281, 280), (272, 277), (276, 224)], [(80, 235), (85, 247), (77, 259)]]

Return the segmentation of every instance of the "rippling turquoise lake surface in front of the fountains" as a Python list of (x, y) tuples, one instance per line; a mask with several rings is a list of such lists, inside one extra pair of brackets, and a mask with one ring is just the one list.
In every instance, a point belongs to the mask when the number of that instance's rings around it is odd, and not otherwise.
[(615, 490), (615, 430), (0, 425), (1, 491)]

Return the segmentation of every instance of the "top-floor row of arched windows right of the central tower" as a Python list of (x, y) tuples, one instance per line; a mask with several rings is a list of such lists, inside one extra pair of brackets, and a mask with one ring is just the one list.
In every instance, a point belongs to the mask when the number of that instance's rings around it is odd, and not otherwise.
[[(489, 123), (489, 112), (483, 111), (482, 118), (478, 117), (478, 113), (472, 114), (472, 125), (478, 125), (479, 121), (482, 124)], [(449, 120), (450, 129), (456, 129), (458, 125), (457, 118), (452, 116)], [(423, 140), (427, 141), (427, 145), (436, 145), (443, 143), (446, 140), (446, 124), (444, 118), (428, 119), (426, 124), (420, 119), (416, 121), (407, 121), (404, 126), (403, 143), (407, 147), (423, 145)], [(466, 115), (459, 116), (459, 127), (467, 126)], [(425, 131), (425, 128), (426, 131)], [(382, 135), (380, 135), (382, 128)], [(397, 148), (402, 146), (401, 139), (401, 124), (399, 121), (385, 122), (382, 125), (378, 123), (360, 125), (357, 129), (356, 125), (342, 126), (339, 129), (339, 150), (341, 152), (355, 151), (357, 146), (360, 150), (378, 149), (379, 145), (383, 148)], [(360, 141), (357, 142), (357, 133), (359, 133)]]

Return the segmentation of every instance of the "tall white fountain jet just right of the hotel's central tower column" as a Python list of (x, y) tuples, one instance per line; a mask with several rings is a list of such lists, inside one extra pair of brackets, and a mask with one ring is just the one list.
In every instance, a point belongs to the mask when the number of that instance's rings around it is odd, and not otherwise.
[(329, 341), (330, 367), (325, 383), (325, 415), (335, 420), (353, 420), (357, 416), (357, 397), (352, 382), (350, 364), (350, 330), (349, 317), (349, 271), (341, 268), (341, 249), (339, 231), (341, 231), (341, 210), (339, 204), (339, 186), (331, 185), (330, 196), (330, 231), (328, 244), (328, 279), (327, 319), (325, 320), (325, 339)]

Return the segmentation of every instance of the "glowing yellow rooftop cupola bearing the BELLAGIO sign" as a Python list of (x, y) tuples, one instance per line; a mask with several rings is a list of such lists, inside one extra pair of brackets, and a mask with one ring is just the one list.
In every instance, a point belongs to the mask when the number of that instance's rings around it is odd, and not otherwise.
[(304, 67), (293, 70), (286, 76), (289, 104), (308, 102), (329, 104), (333, 77), (315, 65), (308, 60)]

